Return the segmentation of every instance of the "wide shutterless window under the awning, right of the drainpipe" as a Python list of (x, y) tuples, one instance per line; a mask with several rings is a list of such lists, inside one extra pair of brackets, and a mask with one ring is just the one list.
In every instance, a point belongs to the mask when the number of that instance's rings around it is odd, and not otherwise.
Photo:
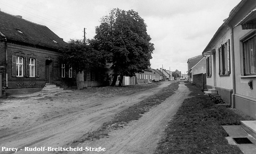
[(243, 41), (244, 74), (256, 74), (256, 35)]

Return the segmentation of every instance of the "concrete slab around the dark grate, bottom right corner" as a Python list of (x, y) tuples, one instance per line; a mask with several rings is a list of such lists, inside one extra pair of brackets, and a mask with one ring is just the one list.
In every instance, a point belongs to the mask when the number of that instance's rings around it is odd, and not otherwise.
[[(231, 145), (236, 145), (244, 154), (256, 154), (256, 139), (248, 134), (241, 125), (238, 126), (222, 126), (225, 131), (228, 133), (228, 143)], [(247, 137), (252, 144), (237, 144), (233, 138), (243, 138)]]

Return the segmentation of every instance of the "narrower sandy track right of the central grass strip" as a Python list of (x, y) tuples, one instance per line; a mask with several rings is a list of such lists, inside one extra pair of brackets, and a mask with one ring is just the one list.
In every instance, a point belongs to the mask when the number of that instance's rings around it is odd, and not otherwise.
[[(79, 146), (101, 146), (106, 148), (105, 153), (111, 154), (154, 153), (157, 143), (164, 135), (163, 131), (168, 121), (177, 112), (183, 100), (188, 98), (189, 93), (190, 91), (184, 82), (181, 82), (175, 94), (143, 114), (139, 120), (132, 121), (124, 128), (110, 132), (108, 138), (85, 141)], [(90, 153), (103, 153), (103, 151)]]

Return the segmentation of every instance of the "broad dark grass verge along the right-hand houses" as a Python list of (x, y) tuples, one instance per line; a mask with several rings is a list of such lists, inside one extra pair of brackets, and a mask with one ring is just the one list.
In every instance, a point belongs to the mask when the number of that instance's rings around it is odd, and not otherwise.
[(225, 106), (215, 105), (210, 97), (190, 83), (185, 84), (191, 98), (185, 99), (165, 129), (165, 138), (155, 153), (242, 153), (228, 144), (228, 136), (221, 125), (239, 125), (248, 120)]

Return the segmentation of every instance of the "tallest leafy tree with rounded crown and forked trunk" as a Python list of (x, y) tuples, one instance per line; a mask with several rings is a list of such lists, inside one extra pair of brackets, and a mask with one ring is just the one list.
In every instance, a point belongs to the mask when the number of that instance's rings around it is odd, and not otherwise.
[(120, 86), (124, 75), (132, 77), (150, 66), (154, 50), (150, 40), (147, 25), (138, 12), (117, 8), (101, 18), (94, 42), (97, 42), (98, 50), (108, 53), (107, 61), (112, 63), (114, 71), (112, 86), (116, 84), (118, 75), (121, 76)]

